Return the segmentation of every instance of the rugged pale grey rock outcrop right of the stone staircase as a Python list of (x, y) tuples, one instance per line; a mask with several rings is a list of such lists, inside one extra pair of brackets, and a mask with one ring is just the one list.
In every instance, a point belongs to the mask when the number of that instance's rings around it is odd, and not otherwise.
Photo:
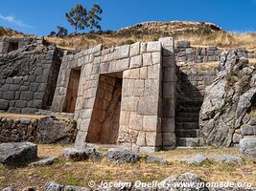
[(244, 137), (241, 126), (252, 124), (256, 74), (255, 67), (236, 51), (221, 53), (220, 69), (206, 88), (199, 126), (205, 144), (229, 147)]

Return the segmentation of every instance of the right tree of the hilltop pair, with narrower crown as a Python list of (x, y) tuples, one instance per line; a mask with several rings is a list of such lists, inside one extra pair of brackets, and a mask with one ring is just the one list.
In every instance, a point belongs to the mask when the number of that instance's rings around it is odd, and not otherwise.
[(94, 32), (94, 28), (97, 30), (102, 30), (99, 22), (102, 20), (100, 14), (103, 13), (102, 8), (98, 4), (93, 4), (92, 9), (88, 13), (87, 21), (88, 21), (88, 28), (90, 32)]

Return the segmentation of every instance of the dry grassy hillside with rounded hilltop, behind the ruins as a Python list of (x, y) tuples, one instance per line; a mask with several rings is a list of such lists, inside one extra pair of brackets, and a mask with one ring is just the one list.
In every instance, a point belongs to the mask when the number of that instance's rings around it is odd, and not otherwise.
[[(0, 36), (22, 35), (25, 34), (12, 30), (3, 31), (3, 28), (0, 28)], [(154, 41), (165, 36), (173, 36), (175, 40), (189, 40), (192, 46), (217, 45), (223, 49), (244, 46), (246, 50), (256, 50), (256, 33), (254, 32), (225, 32), (213, 23), (188, 21), (150, 21), (125, 27), (119, 31), (70, 34), (65, 37), (48, 36), (46, 40), (66, 49), (87, 49), (97, 44), (104, 44), (107, 48), (137, 41)]]

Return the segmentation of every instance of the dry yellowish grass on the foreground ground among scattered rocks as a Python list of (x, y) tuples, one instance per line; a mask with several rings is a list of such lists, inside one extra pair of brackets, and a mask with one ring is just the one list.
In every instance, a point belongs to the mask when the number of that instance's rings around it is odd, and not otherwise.
[[(72, 145), (38, 145), (38, 156), (59, 156), (65, 147)], [(244, 159), (242, 163), (218, 163), (206, 161), (199, 165), (186, 164), (178, 161), (184, 156), (203, 154), (211, 157), (219, 154), (239, 156), (237, 149), (176, 149), (168, 152), (158, 152), (152, 156), (163, 157), (170, 164), (148, 164), (144, 161), (135, 164), (117, 165), (106, 159), (93, 162), (79, 161), (72, 165), (66, 165), (66, 161), (59, 159), (51, 166), (24, 167), (18, 169), (6, 169), (0, 165), (0, 189), (12, 185), (20, 190), (27, 186), (36, 186), (42, 190), (45, 182), (59, 181), (62, 184), (86, 186), (89, 180), (100, 183), (101, 180), (113, 181), (152, 181), (164, 180), (175, 174), (191, 172), (196, 173), (207, 181), (238, 181), (251, 182), (256, 185), (255, 161)]]

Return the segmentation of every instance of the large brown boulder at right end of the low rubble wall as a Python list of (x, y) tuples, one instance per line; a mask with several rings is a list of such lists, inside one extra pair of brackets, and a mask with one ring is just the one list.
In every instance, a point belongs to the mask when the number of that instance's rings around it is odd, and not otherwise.
[(42, 117), (38, 120), (38, 143), (73, 143), (77, 134), (76, 121), (68, 117)]

